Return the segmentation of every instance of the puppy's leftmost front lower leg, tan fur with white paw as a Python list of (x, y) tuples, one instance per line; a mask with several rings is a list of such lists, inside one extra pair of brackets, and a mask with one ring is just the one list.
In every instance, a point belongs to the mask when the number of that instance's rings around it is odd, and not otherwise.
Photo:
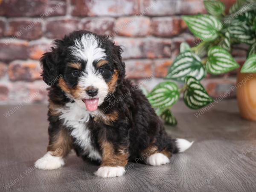
[(72, 148), (72, 138), (66, 129), (50, 135), (47, 153), (35, 162), (35, 167), (43, 170), (58, 169), (64, 166), (64, 157)]

